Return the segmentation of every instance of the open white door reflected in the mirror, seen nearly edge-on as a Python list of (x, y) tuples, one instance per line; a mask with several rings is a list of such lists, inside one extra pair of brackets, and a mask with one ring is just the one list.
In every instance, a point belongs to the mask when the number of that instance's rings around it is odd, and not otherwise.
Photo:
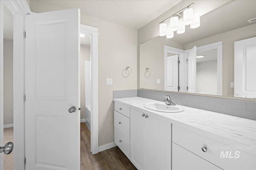
[(188, 52), (188, 92), (196, 93), (196, 46)]

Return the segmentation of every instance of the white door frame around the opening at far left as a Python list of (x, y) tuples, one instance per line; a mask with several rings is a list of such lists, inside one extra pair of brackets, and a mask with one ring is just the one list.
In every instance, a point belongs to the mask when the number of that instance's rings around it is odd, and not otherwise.
[[(23, 0), (0, 1), (0, 120), (3, 121), (3, 3), (13, 14), (13, 119), (14, 119), (14, 169), (24, 169), (24, 15), (31, 14), (28, 3)], [(3, 127), (0, 127), (0, 137), (2, 139)], [(17, 139), (17, 140), (16, 140)], [(2, 141), (1, 141), (2, 142)], [(2, 143), (1, 143), (2, 145)], [(2, 169), (3, 155), (0, 155), (0, 169)]]

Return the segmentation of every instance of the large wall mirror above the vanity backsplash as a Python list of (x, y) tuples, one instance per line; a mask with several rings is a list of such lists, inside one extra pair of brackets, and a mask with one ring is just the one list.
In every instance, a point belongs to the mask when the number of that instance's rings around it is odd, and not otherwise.
[(234, 0), (196, 29), (140, 44), (140, 88), (256, 98), (255, 18), (255, 0)]

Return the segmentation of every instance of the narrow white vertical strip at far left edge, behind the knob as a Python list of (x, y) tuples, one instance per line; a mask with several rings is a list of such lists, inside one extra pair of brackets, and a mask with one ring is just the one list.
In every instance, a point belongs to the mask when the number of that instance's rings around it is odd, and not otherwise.
[[(0, 146), (4, 146), (4, 53), (3, 53), (3, 43), (4, 43), (4, 34), (3, 34), (3, 23), (4, 23), (4, 12), (3, 12), (4, 3), (0, 0)], [(4, 169), (4, 154), (0, 154), (0, 169)]]

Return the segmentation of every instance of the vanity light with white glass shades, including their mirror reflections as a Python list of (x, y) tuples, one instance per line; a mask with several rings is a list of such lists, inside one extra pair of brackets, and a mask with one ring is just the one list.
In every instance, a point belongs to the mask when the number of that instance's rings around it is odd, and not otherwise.
[[(190, 28), (197, 28), (200, 26), (200, 18), (195, 18), (193, 15), (193, 9), (190, 6), (194, 5), (194, 3), (186, 6), (179, 12), (176, 12), (172, 16), (166, 18), (161, 21), (159, 24), (159, 35), (165, 36), (166, 38), (174, 37), (174, 31), (177, 31), (177, 34), (182, 34), (185, 32), (185, 26), (190, 25)], [(183, 15), (183, 21), (179, 23), (178, 16)], [(166, 20), (170, 19), (170, 24), (164, 23)]]

